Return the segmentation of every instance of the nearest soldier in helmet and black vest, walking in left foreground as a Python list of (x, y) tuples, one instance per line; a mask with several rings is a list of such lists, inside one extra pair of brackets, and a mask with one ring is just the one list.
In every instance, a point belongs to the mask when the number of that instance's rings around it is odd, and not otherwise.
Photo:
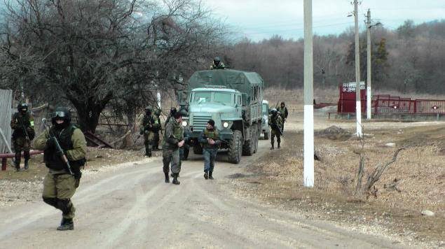
[[(46, 204), (62, 211), (62, 222), (57, 230), (72, 230), (76, 208), (71, 197), (80, 184), (81, 167), (86, 162), (86, 141), (81, 129), (71, 124), (71, 115), (67, 108), (57, 107), (51, 121), (51, 132), (43, 131), (34, 141), (35, 147), (43, 150), (43, 159), (49, 169), (43, 180), (42, 198)], [(55, 139), (64, 154), (57, 150)], [(64, 156), (69, 161), (72, 175), (64, 162)]]

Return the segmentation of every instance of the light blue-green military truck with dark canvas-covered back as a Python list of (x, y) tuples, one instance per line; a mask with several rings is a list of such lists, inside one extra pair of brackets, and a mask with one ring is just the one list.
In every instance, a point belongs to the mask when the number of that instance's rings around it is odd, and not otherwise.
[(258, 73), (233, 69), (196, 71), (179, 92), (179, 105), (186, 109), (183, 126), (189, 129), (193, 152), (202, 154), (198, 143), (207, 121), (215, 121), (228, 160), (235, 164), (242, 155), (252, 155), (258, 149), (261, 134), (261, 104), (264, 83)]

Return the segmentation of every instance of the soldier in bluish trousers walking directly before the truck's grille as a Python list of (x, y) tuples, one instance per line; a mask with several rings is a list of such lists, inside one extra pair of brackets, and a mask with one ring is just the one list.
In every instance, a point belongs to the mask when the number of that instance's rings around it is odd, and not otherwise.
[(213, 180), (214, 160), (221, 140), (217, 128), (214, 126), (214, 120), (207, 122), (207, 127), (201, 132), (199, 143), (203, 147), (204, 155), (204, 178), (205, 180)]

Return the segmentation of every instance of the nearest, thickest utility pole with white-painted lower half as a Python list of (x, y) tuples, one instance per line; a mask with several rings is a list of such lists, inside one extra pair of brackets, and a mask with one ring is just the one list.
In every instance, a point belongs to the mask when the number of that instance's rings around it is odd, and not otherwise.
[(314, 186), (314, 66), (312, 0), (304, 0), (304, 165), (303, 184)]

